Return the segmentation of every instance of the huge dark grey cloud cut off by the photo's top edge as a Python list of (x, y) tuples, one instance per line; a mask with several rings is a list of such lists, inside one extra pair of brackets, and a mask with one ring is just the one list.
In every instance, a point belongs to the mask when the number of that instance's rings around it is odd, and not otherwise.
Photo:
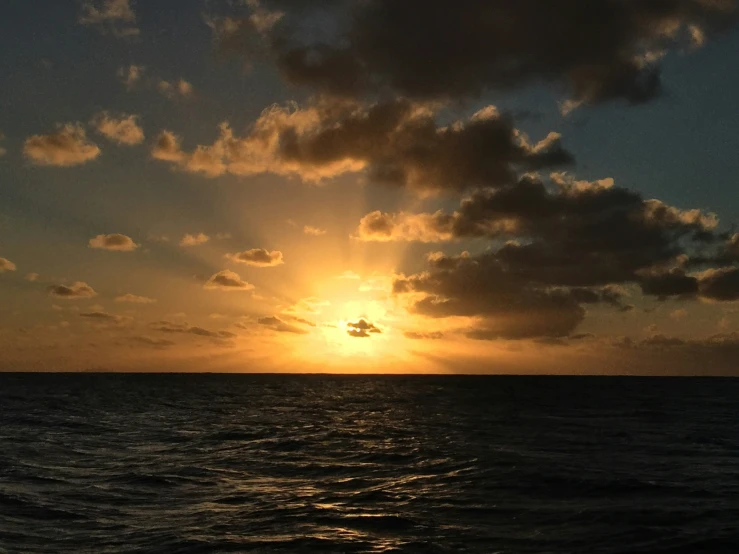
[(294, 85), (342, 97), (464, 99), (549, 82), (569, 91), (572, 105), (658, 97), (655, 53), (697, 47), (736, 20), (733, 0), (430, 0), (422, 10), (375, 0), (322, 11), (333, 16), (337, 38), (311, 41), (301, 27), (310, 19), (294, 5), (263, 4), (285, 8), (285, 23), (262, 49)]

